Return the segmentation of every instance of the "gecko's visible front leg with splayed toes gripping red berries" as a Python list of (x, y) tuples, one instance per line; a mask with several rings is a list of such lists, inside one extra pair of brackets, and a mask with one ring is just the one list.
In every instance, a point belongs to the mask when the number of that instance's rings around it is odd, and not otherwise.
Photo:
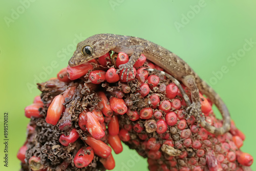
[(133, 51), (133, 54), (131, 55), (129, 61), (127, 63), (120, 65), (119, 69), (117, 70), (117, 73), (119, 73), (121, 70), (123, 70), (121, 79), (123, 79), (123, 74), (127, 70), (126, 81), (128, 81), (130, 71), (132, 71), (133, 78), (134, 78), (133, 65), (139, 59), (140, 55), (144, 51), (144, 47), (142, 45), (134, 45), (134, 46), (129, 46), (129, 47), (121, 47), (120, 50), (124, 53)]

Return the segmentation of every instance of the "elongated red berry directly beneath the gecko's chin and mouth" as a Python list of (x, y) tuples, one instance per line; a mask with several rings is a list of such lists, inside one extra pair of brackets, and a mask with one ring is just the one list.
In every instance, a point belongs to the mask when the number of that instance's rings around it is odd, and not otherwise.
[(75, 66), (75, 67), (68, 66), (67, 75), (70, 80), (75, 80), (86, 75), (88, 71), (92, 69), (93, 69), (93, 66), (91, 65), (91, 63), (88, 63), (88, 62), (82, 63), (81, 65)]

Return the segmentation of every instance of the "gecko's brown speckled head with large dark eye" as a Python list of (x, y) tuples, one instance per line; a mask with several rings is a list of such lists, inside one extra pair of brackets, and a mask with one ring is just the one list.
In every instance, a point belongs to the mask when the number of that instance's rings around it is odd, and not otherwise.
[(76, 51), (69, 60), (69, 66), (75, 67), (98, 58), (111, 50), (107, 36), (96, 34), (77, 44)]

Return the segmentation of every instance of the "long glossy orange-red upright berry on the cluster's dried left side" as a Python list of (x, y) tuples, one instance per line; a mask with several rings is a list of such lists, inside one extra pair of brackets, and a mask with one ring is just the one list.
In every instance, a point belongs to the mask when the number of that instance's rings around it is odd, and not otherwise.
[(57, 122), (59, 121), (60, 115), (64, 109), (64, 106), (62, 105), (64, 101), (65, 99), (61, 94), (54, 97), (47, 111), (47, 116), (46, 116), (47, 123), (50, 123), (52, 125), (57, 124)]

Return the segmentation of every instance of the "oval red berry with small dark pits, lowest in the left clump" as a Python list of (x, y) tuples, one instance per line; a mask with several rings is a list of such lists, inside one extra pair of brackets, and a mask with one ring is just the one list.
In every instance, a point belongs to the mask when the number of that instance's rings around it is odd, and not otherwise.
[(77, 168), (86, 167), (93, 161), (93, 158), (94, 152), (92, 147), (81, 147), (76, 153), (76, 156), (74, 158), (74, 164)]

